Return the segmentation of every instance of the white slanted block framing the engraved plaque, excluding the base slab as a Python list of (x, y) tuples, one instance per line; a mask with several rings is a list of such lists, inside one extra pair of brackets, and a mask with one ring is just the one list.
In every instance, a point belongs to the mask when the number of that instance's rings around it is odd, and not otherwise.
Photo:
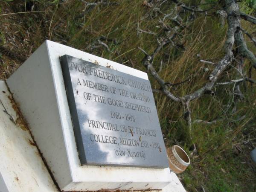
[(139, 70), (46, 41), (7, 80), (61, 190), (162, 189), (171, 182), (184, 191), (169, 169), (80, 166), (59, 62), (65, 54), (148, 79)]

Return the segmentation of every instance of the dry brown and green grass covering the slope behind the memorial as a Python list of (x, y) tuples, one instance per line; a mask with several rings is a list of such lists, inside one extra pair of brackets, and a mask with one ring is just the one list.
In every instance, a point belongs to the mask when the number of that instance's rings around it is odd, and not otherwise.
[[(142, 64), (145, 55), (138, 47), (152, 52), (157, 35), (163, 32), (160, 18), (164, 15), (154, 15), (154, 1), (111, 0), (97, 5), (88, 2), (99, 1), (0, 0), (0, 79), (7, 79), (46, 39), (148, 72)], [(218, 5), (209, 15), (183, 12), (180, 22), (188, 27), (180, 30), (175, 46), (161, 49), (154, 58), (154, 67), (166, 82), (184, 81), (169, 88), (180, 96), (205, 84), (213, 66), (199, 60), (218, 61), (224, 55), (227, 34), (227, 23), (221, 24), (215, 14), (221, 9), (221, 1), (183, 3), (201, 3), (206, 8)], [(243, 12), (256, 15), (255, 0), (243, 0), (239, 6)], [(142, 20), (151, 12), (153, 16)], [(177, 14), (179, 7), (168, 1), (161, 12)], [(241, 22), (255, 37), (255, 25)], [(165, 23), (172, 26), (171, 20), (166, 19)], [(256, 47), (247, 36), (244, 38), (255, 54)], [(256, 79), (255, 70), (245, 70)], [(236, 79), (236, 69), (231, 67), (224, 75), (219, 81)], [(159, 88), (151, 75), (149, 79), (152, 88)], [(228, 84), (216, 86), (214, 95), (192, 102), (192, 140), (182, 106), (154, 93), (166, 147), (178, 144), (190, 154), (192, 144), (196, 146), (191, 166), (178, 175), (187, 191), (256, 191), (256, 166), (250, 159), (250, 151), (256, 147), (256, 89), (249, 82), (240, 88), (244, 99), (236, 99), (234, 84)]]

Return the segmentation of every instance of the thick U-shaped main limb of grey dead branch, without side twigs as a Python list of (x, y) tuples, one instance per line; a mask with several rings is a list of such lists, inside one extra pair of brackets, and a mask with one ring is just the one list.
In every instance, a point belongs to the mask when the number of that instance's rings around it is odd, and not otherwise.
[[(177, 1), (175, 1), (177, 2)], [(215, 82), (218, 80), (219, 75), (224, 71), (224, 69), (231, 64), (231, 62), (234, 60), (232, 48), (234, 45), (234, 38), (235, 33), (237, 32), (237, 26), (240, 24), (239, 19), (239, 7), (235, 2), (232, 0), (226, 0), (227, 5), (227, 20), (228, 20), (228, 32), (227, 32), (227, 40), (225, 44), (226, 49), (226, 55), (216, 64), (215, 69), (212, 71), (212, 73), (209, 75), (209, 82), (204, 85), (204, 87), (201, 87), (200, 89), (196, 90), (194, 93), (190, 93), (189, 95), (177, 97), (173, 93), (171, 93), (169, 90), (167, 90), (166, 82), (158, 75), (156, 70), (154, 69), (152, 63), (154, 56), (162, 49), (166, 44), (169, 44), (172, 41), (172, 37), (165, 38), (161, 43), (158, 43), (157, 48), (154, 50), (154, 52), (149, 55), (146, 53), (143, 49), (145, 58), (143, 59), (142, 63), (143, 65), (148, 69), (148, 71), (151, 73), (151, 75), (157, 80), (157, 82), (161, 86), (161, 90), (163, 93), (169, 97), (170, 99), (181, 102), (181, 101), (192, 101), (194, 99), (197, 99), (201, 97), (205, 92), (208, 90), (211, 90), (212, 87), (214, 87)]]

